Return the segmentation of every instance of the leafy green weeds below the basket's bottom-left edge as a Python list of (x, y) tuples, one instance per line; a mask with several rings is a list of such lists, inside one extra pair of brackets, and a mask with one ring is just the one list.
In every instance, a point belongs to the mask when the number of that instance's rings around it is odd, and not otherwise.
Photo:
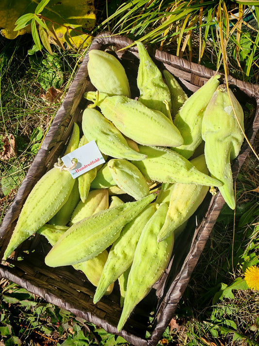
[(0, 291), (0, 335), (6, 346), (24, 342), (56, 346), (129, 345), (121, 336), (109, 334), (14, 283), (2, 279)]

